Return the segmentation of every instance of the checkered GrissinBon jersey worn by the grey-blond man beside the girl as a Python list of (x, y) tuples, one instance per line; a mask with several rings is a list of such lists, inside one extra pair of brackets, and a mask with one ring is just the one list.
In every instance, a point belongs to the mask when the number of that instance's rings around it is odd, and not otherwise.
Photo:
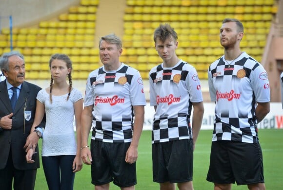
[(125, 64), (114, 71), (102, 66), (86, 84), (84, 106), (94, 105), (92, 139), (131, 142), (135, 105), (146, 105), (140, 72)]

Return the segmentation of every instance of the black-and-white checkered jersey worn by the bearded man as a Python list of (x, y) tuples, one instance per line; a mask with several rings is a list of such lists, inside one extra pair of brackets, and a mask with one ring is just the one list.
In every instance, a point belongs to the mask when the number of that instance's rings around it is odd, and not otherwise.
[(208, 69), (211, 102), (216, 102), (212, 141), (257, 143), (257, 102), (270, 102), (269, 81), (263, 66), (243, 52), (230, 68), (224, 55)]

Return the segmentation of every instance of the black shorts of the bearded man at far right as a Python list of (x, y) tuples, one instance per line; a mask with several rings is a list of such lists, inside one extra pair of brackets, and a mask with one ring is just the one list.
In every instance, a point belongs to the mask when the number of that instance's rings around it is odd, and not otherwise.
[(207, 181), (218, 184), (264, 183), (260, 144), (230, 140), (213, 141)]

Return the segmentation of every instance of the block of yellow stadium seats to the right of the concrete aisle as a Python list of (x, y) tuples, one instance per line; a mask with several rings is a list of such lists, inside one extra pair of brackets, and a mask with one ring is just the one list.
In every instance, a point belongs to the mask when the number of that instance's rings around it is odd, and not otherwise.
[[(154, 49), (153, 33), (160, 23), (169, 23), (179, 34), (176, 53), (198, 70), (201, 79), (207, 79), (209, 63), (223, 54), (218, 34), (225, 17), (243, 21), (242, 50), (261, 61), (276, 12), (274, 0), (127, 0), (123, 41), (130, 50), (124, 59), (136, 56), (142, 65), (162, 62)], [(141, 48), (150, 53), (137, 53)], [(148, 77), (149, 70), (140, 71)]]

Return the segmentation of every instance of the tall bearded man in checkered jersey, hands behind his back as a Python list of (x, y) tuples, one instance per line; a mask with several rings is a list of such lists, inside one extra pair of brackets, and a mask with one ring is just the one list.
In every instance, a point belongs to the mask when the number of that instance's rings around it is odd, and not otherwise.
[(263, 66), (240, 49), (243, 24), (226, 18), (220, 28), (224, 55), (208, 69), (215, 121), (207, 181), (215, 190), (231, 184), (265, 190), (257, 124), (270, 110), (269, 81)]

